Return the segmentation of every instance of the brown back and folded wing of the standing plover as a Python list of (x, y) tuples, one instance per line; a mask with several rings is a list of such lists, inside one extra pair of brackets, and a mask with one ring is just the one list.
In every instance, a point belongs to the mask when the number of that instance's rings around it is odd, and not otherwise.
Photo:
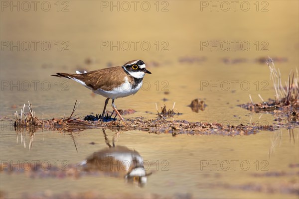
[[(93, 90), (102, 89), (105, 91), (111, 91), (113, 88), (122, 85), (125, 81), (126, 72), (121, 66), (105, 68), (95, 71), (90, 71), (83, 74), (68, 74), (68, 73), (57, 73), (53, 75), (56, 77), (64, 78), (76, 78), (86, 84), (86, 86)], [(69, 78), (70, 77), (70, 78)]]

